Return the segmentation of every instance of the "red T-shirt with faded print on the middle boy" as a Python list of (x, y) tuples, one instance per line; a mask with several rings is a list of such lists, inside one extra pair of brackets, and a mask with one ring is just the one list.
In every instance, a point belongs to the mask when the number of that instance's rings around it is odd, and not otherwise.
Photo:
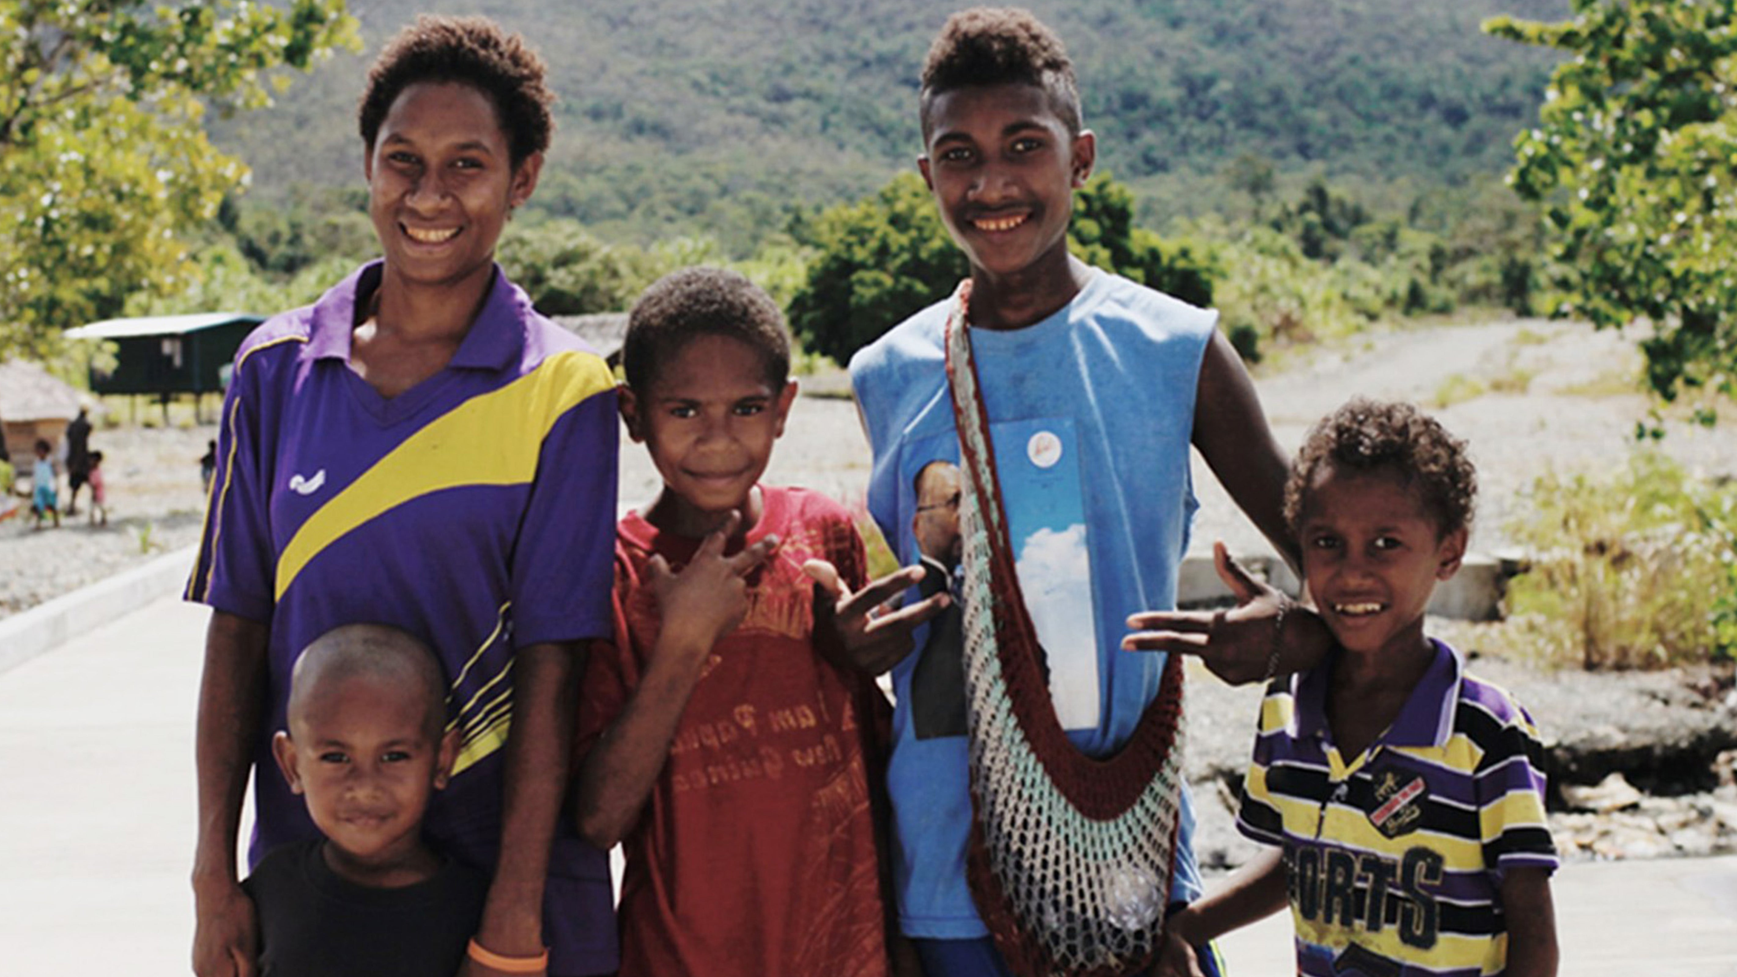
[[(624, 841), (622, 977), (884, 977), (884, 907), (862, 709), (872, 683), (815, 647), (811, 558), (856, 589), (863, 542), (816, 492), (763, 488), (747, 534), (778, 549), (749, 575), (749, 610), (714, 648), (669, 760)], [(646, 563), (700, 541), (625, 516), (615, 548), (615, 645), (596, 643), (580, 753), (615, 721), (658, 633)], [(875, 720), (870, 720), (874, 723)]]

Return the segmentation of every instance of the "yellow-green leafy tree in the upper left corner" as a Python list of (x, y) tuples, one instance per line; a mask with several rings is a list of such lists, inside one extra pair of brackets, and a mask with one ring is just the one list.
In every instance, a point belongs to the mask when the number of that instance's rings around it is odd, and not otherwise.
[(342, 0), (0, 0), (0, 353), (184, 287), (184, 235), (247, 179), (203, 115), (334, 47), (360, 47)]

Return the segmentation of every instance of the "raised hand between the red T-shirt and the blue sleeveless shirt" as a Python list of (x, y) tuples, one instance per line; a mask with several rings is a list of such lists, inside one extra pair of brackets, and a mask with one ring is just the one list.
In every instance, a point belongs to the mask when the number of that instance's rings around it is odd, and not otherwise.
[(917, 586), (922, 567), (893, 570), (855, 593), (839, 579), (837, 567), (825, 560), (802, 563), (802, 572), (815, 581), (815, 633), (830, 633), (822, 647), (832, 645), (844, 657), (841, 664), (868, 675), (881, 675), (903, 661), (917, 647), (910, 633), (952, 603), (941, 589), (898, 610), (882, 607)]

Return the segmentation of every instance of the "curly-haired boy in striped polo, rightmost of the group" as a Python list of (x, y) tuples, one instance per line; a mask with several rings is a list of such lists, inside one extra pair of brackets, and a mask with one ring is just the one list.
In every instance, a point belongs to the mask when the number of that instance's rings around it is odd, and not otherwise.
[(1303, 975), (1556, 974), (1537, 730), (1423, 633), (1475, 492), (1464, 442), (1407, 403), (1310, 431), (1285, 518), (1337, 647), (1268, 687), (1237, 826), (1273, 848), (1171, 921), (1159, 974), (1287, 902)]

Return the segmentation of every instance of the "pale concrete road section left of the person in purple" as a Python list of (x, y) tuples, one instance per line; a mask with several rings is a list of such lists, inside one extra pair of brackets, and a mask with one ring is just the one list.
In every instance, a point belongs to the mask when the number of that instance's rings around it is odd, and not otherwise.
[(0, 675), (5, 972), (189, 972), (207, 615), (160, 596)]

